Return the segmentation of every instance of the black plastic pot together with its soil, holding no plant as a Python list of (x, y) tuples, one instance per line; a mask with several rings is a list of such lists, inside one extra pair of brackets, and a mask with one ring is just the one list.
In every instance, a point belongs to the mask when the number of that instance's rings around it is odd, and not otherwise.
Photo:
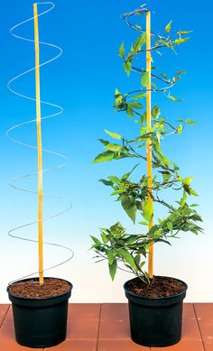
[(70, 282), (58, 278), (44, 278), (42, 285), (38, 278), (24, 279), (7, 287), (18, 344), (50, 347), (65, 340), (71, 290)]

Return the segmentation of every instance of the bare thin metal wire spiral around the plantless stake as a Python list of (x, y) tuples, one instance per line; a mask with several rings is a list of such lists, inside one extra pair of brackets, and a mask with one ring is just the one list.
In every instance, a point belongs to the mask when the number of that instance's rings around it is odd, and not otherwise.
[[(50, 8), (47, 9), (46, 11), (43, 11), (41, 14), (38, 14), (38, 17), (39, 17), (39, 16), (42, 16), (43, 14), (47, 14), (48, 12), (50, 12), (50, 11), (54, 8), (54, 4), (51, 3), (51, 2), (37, 3), (37, 5), (50, 5)], [(28, 22), (33, 21), (33, 19), (34, 19), (34, 16), (31, 17), (31, 18), (29, 18), (29, 19), (27, 19), (27, 20), (25, 20), (25, 21), (23, 21), (22, 23), (15, 24), (15, 25), (11, 28), (11, 30), (10, 30), (11, 34), (12, 34), (15, 38), (21, 39), (21, 40), (23, 40), (23, 41), (26, 41), (26, 42), (35, 42), (34, 40), (32, 40), (32, 39), (30, 39), (30, 38), (25, 38), (25, 37), (22, 37), (22, 36), (20, 36), (20, 35), (17, 35), (16, 33), (14, 33), (14, 30), (15, 30), (16, 28), (22, 26), (23, 23), (28, 23)], [(50, 60), (46, 60), (46, 61), (42, 62), (42, 63), (39, 65), (39, 67), (42, 67), (42, 66), (44, 66), (44, 65), (46, 65), (46, 64), (48, 64), (48, 63), (50, 63), (50, 62), (53, 61), (53, 60), (57, 60), (57, 59), (60, 57), (60, 55), (61, 55), (61, 53), (62, 53), (62, 49), (60, 49), (59, 46), (53, 45), (53, 44), (47, 43), (47, 42), (39, 42), (39, 43), (42, 44), (42, 45), (46, 45), (46, 46), (49, 46), (49, 47), (51, 47), (51, 48), (57, 49), (57, 51), (58, 51), (58, 54), (57, 54), (57, 55), (55, 55), (55, 56), (54, 56), (53, 58), (51, 58)], [(14, 83), (14, 81), (15, 81), (16, 79), (19, 79), (20, 77), (23, 77), (24, 75), (26, 75), (26, 74), (32, 72), (33, 70), (35, 70), (35, 67), (33, 67), (32, 69), (28, 69), (28, 70), (24, 71), (23, 73), (19, 74), (18, 76), (14, 77), (13, 79), (11, 79), (11, 80), (8, 82), (8, 84), (7, 84), (7, 88), (9, 88), (9, 90), (10, 90), (12, 93), (14, 93), (15, 95), (17, 95), (18, 97), (23, 97), (23, 98), (28, 99), (28, 100), (31, 100), (31, 101), (36, 101), (36, 99), (35, 99), (34, 97), (25, 96), (25, 95), (19, 93), (17, 90), (15, 90), (15, 89), (13, 88), (13, 83)], [(51, 114), (51, 115), (42, 116), (41, 120), (55, 117), (56, 115), (60, 115), (60, 114), (63, 112), (63, 108), (62, 108), (61, 106), (58, 106), (58, 105), (55, 105), (55, 104), (51, 104), (50, 102), (41, 101), (41, 104), (46, 105), (46, 106), (53, 106), (53, 107), (57, 108), (57, 112), (55, 112), (54, 114)], [(9, 128), (9, 129), (7, 130), (6, 136), (7, 136), (8, 139), (9, 139), (10, 141), (12, 141), (13, 143), (17, 143), (17, 144), (22, 145), (22, 146), (24, 146), (24, 147), (37, 150), (37, 146), (34, 146), (34, 145), (32, 145), (32, 144), (29, 144), (29, 143), (23, 143), (22, 141), (17, 140), (17, 139), (14, 139), (14, 137), (13, 137), (13, 132), (14, 132), (15, 129), (19, 129), (19, 128), (22, 127), (23, 125), (30, 125), (30, 124), (33, 124), (33, 123), (35, 123), (35, 122), (36, 122), (36, 119), (32, 119), (32, 120), (27, 121), (27, 122), (24, 122), (24, 123), (22, 123), (22, 124), (14, 125), (14, 126), (12, 126), (11, 128)], [(51, 167), (51, 168), (48, 168), (48, 169), (44, 169), (44, 170), (42, 170), (42, 172), (48, 172), (48, 171), (53, 171), (53, 170), (56, 170), (56, 169), (60, 169), (61, 167), (64, 167), (64, 166), (67, 164), (68, 160), (69, 160), (68, 157), (66, 157), (65, 155), (63, 155), (63, 154), (61, 154), (61, 153), (59, 153), (59, 152), (53, 152), (53, 151), (47, 150), (47, 149), (42, 149), (42, 152), (47, 152), (47, 153), (49, 153), (49, 154), (51, 154), (51, 155), (53, 155), (53, 156), (60, 157), (60, 159), (63, 160), (63, 162), (60, 163), (58, 166)], [(18, 176), (18, 177), (15, 177), (15, 178), (9, 180), (9, 181), (8, 181), (8, 184), (9, 184), (12, 188), (14, 188), (14, 189), (18, 189), (18, 190), (25, 191), (25, 192), (32, 193), (32, 194), (38, 194), (38, 191), (33, 191), (32, 189), (27, 189), (27, 188), (21, 188), (21, 187), (19, 187), (19, 186), (16, 185), (16, 182), (17, 182), (18, 180), (23, 180), (23, 179), (26, 179), (26, 178), (34, 177), (34, 176), (36, 176), (36, 175), (38, 175), (38, 172), (37, 172), (37, 171), (36, 171), (36, 172), (29, 173), (29, 174), (24, 174), (24, 175), (21, 175), (21, 176)], [(45, 193), (45, 194), (43, 194), (43, 195), (44, 195), (45, 197), (49, 197), (49, 198), (51, 198), (51, 199), (59, 199), (60, 201), (62, 201), (63, 203), (66, 204), (66, 208), (65, 208), (64, 210), (62, 210), (62, 211), (60, 211), (60, 212), (57, 212), (57, 213), (54, 213), (54, 214), (52, 214), (50, 217), (44, 217), (44, 218), (43, 218), (43, 221), (47, 221), (47, 220), (49, 220), (49, 219), (51, 219), (51, 218), (53, 218), (53, 217), (58, 217), (58, 216), (60, 216), (60, 215), (62, 215), (62, 214), (65, 214), (65, 213), (68, 212), (69, 209), (71, 208), (71, 203), (69, 203), (69, 201), (66, 200), (66, 199), (63, 199), (63, 198), (60, 198), (60, 197), (57, 197), (57, 196), (54, 196), (54, 195), (51, 195), (51, 194), (48, 194), (48, 193)], [(14, 238), (16, 238), (16, 239), (24, 240), (24, 241), (27, 241), (27, 242), (38, 243), (38, 240), (33, 240), (33, 239), (29, 239), (29, 238), (27, 238), (27, 237), (23, 237), (23, 236), (19, 236), (19, 235), (14, 234), (14, 233), (16, 233), (17, 231), (22, 230), (24, 227), (33, 226), (33, 225), (35, 225), (35, 224), (38, 224), (38, 221), (37, 221), (37, 220), (32, 221), (32, 222), (27, 223), (27, 224), (23, 224), (22, 226), (16, 226), (16, 227), (14, 227), (13, 229), (11, 229), (11, 230), (8, 232), (8, 236), (12, 236), (12, 237), (14, 237)], [(43, 244), (44, 244), (44, 245), (57, 246), (57, 247), (60, 247), (60, 248), (63, 248), (63, 249), (65, 249), (65, 250), (69, 251), (69, 253), (70, 253), (68, 259), (66, 259), (66, 260), (63, 261), (63, 262), (54, 264), (54, 265), (52, 265), (51, 267), (45, 268), (45, 269), (43, 270), (43, 272), (49, 271), (49, 270), (51, 270), (51, 269), (53, 269), (53, 268), (56, 268), (56, 267), (60, 266), (61, 264), (68, 263), (68, 262), (72, 259), (73, 255), (74, 255), (73, 251), (72, 251), (69, 247), (67, 247), (67, 246), (59, 245), (59, 244), (55, 244), (55, 243), (51, 243), (51, 242), (44, 242)], [(40, 271), (27, 274), (27, 275), (23, 276), (22, 278), (16, 279), (14, 282), (17, 282), (17, 281), (19, 281), (19, 280), (23, 280), (24, 278), (31, 277), (32, 275), (38, 274), (39, 272), (40, 272)], [(10, 282), (9, 284), (12, 284), (12, 283), (14, 283), (14, 282)]]

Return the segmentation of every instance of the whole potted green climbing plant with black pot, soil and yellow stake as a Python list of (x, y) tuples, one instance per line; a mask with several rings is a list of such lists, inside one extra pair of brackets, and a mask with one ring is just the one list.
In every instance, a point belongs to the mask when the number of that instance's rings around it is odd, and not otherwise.
[[(146, 31), (140, 23), (144, 14)], [(168, 89), (181, 79), (184, 71), (176, 72), (172, 79), (164, 73), (158, 75), (155, 73), (151, 52), (156, 50), (161, 55), (165, 49), (175, 51), (176, 46), (188, 41), (189, 38), (185, 35), (189, 31), (177, 32), (176, 39), (171, 39), (170, 22), (165, 26), (163, 35), (151, 32), (151, 13), (144, 5), (125, 14), (123, 18), (134, 32), (140, 34), (129, 52), (126, 52), (123, 42), (118, 55), (123, 60), (127, 76), (139, 74), (140, 82), (137, 88), (131, 88), (127, 94), (116, 88), (114, 107), (116, 112), (125, 112), (131, 117), (134, 129), (137, 124), (139, 133), (135, 137), (131, 134), (129, 140), (126, 136), (128, 131), (123, 136), (105, 130), (107, 138), (112, 138), (113, 142), (99, 139), (106, 150), (97, 155), (94, 163), (115, 162), (124, 158), (129, 158), (130, 162), (137, 160), (137, 164), (130, 171), (125, 170), (122, 176), (110, 175), (100, 181), (112, 188), (111, 195), (120, 201), (134, 224), (139, 219), (141, 229), (137, 228), (136, 234), (132, 235), (127, 233), (120, 222), (109, 228), (103, 227), (100, 229), (100, 237), (91, 236), (92, 248), (97, 254), (97, 262), (107, 260), (112, 280), (117, 268), (125, 268), (125, 272), (131, 272), (136, 277), (125, 282), (124, 286), (133, 341), (144, 346), (171, 346), (181, 340), (182, 302), (186, 296), (187, 284), (178, 279), (153, 274), (153, 245), (171, 245), (171, 239), (180, 236), (181, 232), (189, 231), (198, 235), (202, 228), (197, 222), (202, 219), (194, 209), (197, 205), (187, 202), (188, 196), (197, 195), (190, 186), (192, 177), (181, 177), (177, 164), (168, 160), (162, 152), (162, 139), (166, 135), (180, 134), (185, 125), (193, 125), (194, 122), (190, 119), (179, 120), (179, 125), (174, 126), (169, 118), (161, 116), (159, 106), (151, 106), (152, 92), (162, 92), (171, 101), (180, 101), (172, 97)], [(136, 67), (143, 52), (146, 55), (145, 69)], [(162, 88), (159, 84), (162, 84)], [(146, 109), (141, 112), (144, 105), (140, 101), (143, 99)], [(134, 181), (134, 171), (138, 171), (144, 161), (146, 174), (139, 173), (139, 180)], [(167, 203), (162, 198), (164, 189), (175, 189), (176, 193), (177, 190), (182, 190), (181, 199), (176, 200), (174, 205)], [(167, 217), (161, 219), (153, 216), (154, 203), (166, 208)], [(144, 270), (146, 259), (148, 272)]]

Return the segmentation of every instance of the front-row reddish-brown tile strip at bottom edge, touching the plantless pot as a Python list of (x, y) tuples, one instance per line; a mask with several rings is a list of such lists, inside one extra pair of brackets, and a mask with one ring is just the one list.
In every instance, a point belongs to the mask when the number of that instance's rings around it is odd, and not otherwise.
[[(97, 351), (96, 340), (65, 340), (57, 346), (44, 348), (45, 351)], [(9, 350), (8, 350), (9, 351)]]

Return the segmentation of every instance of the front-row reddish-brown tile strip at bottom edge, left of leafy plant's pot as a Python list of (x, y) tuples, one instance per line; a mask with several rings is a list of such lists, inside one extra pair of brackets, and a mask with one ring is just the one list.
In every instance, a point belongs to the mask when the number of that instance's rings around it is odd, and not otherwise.
[(150, 347), (137, 345), (131, 340), (99, 340), (97, 351), (150, 351)]

